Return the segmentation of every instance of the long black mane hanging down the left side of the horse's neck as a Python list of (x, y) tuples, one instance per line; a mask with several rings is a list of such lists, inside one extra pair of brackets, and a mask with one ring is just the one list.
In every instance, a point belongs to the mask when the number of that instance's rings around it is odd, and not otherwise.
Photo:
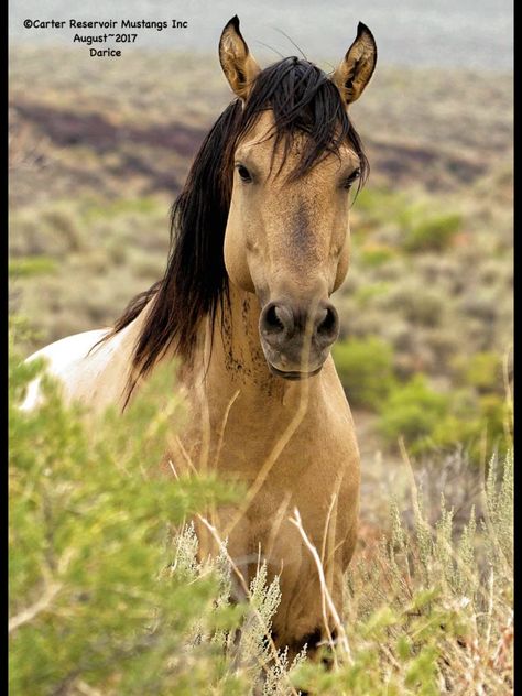
[(171, 346), (189, 359), (200, 320), (210, 315), (214, 322), (219, 300), (227, 293), (222, 244), (229, 200), (219, 183), (227, 140), (240, 110), (235, 101), (216, 121), (172, 207), (171, 250), (163, 279), (139, 295), (141, 307), (129, 305), (115, 326), (115, 331), (127, 326), (152, 300), (133, 356), (133, 366), (142, 374)]

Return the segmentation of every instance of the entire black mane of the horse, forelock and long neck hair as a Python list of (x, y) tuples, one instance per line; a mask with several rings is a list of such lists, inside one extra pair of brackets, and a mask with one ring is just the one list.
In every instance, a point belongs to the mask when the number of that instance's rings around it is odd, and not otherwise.
[[(137, 318), (150, 304), (138, 338), (132, 366), (145, 374), (173, 347), (191, 361), (200, 322), (228, 301), (224, 239), (232, 186), (233, 152), (259, 115), (272, 109), (274, 151), (286, 154), (293, 138), (306, 134), (292, 178), (305, 175), (328, 153), (348, 144), (359, 156), (361, 178), (368, 161), (334, 83), (318, 67), (296, 57), (262, 70), (242, 108), (232, 101), (218, 118), (188, 173), (172, 208), (171, 250), (159, 282), (134, 297), (107, 338)], [(132, 384), (130, 385), (132, 390)]]

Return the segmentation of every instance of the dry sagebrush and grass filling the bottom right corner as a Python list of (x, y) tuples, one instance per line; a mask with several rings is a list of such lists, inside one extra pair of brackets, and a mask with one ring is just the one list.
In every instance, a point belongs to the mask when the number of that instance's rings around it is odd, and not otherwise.
[[(413, 488), (391, 533), (348, 572), (347, 650), (335, 668), (303, 663), (315, 694), (509, 694), (513, 687), (513, 459), (490, 463), (485, 515), (457, 531), (441, 498), (434, 524)], [(413, 528), (404, 523), (412, 513)]]

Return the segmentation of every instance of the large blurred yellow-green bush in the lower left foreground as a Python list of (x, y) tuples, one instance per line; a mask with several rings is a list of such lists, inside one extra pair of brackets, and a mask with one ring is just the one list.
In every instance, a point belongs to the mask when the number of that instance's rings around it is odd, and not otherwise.
[(216, 678), (235, 693), (237, 679), (219, 673), (219, 648), (208, 643), (196, 664), (181, 648), (196, 619), (224, 630), (235, 610), (213, 609), (214, 574), (187, 585), (165, 555), (168, 525), (233, 496), (216, 480), (165, 485), (146, 475), (180, 404), (159, 403), (154, 384), (124, 417), (108, 413), (89, 427), (44, 379), (45, 403), (22, 412), (40, 370), (12, 355), (10, 692), (192, 694)]

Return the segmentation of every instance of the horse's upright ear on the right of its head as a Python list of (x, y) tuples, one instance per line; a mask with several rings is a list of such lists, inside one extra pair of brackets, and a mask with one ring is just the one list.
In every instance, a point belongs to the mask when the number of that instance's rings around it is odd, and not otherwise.
[(359, 99), (370, 81), (377, 63), (377, 44), (366, 24), (359, 22), (357, 36), (331, 79), (349, 106)]

